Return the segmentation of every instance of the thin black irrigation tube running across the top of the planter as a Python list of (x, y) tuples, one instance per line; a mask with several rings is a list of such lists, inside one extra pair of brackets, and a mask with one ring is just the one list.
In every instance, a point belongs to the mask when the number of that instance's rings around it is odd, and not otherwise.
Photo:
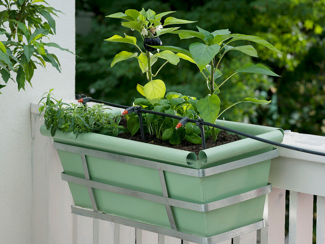
[[(76, 95), (76, 98), (78, 98), (77, 95)], [(123, 106), (123, 105), (109, 103), (109, 102), (105, 102), (105, 101), (101, 101), (101, 100), (97, 100), (97, 99), (92, 99), (92, 98), (90, 98), (89, 101), (90, 102), (96, 102), (96, 103), (102, 103), (102, 104), (112, 106), (112, 107), (116, 107), (116, 108), (120, 108), (120, 109), (128, 109), (128, 108), (134, 107), (134, 106), (131, 106), (131, 107)], [(161, 116), (165, 116), (165, 117), (169, 117), (169, 118), (173, 118), (173, 119), (177, 119), (177, 120), (181, 120), (181, 119), (184, 118), (184, 117), (177, 116), (177, 115), (161, 113), (161, 112), (147, 110), (147, 109), (141, 109), (140, 107), (137, 107), (137, 106), (135, 106), (134, 110), (136, 110), (138, 112), (142, 112), (142, 113), (150, 113), (150, 114), (155, 114), (155, 115), (161, 115)], [(232, 132), (232, 133), (235, 133), (235, 134), (238, 134), (238, 135), (242, 135), (242, 136), (245, 136), (245, 137), (260, 141), (260, 142), (264, 142), (264, 143), (267, 143), (267, 144), (271, 144), (273, 146), (281, 147), (281, 148), (287, 148), (287, 149), (291, 149), (291, 150), (295, 150), (295, 151), (299, 151), (299, 152), (305, 152), (305, 153), (309, 153), (309, 154), (325, 156), (324, 152), (318, 152), (318, 151), (314, 151), (314, 150), (308, 150), (308, 149), (305, 149), (305, 148), (293, 147), (293, 146), (290, 146), (290, 145), (286, 145), (286, 144), (283, 144), (283, 143), (267, 140), (267, 139), (264, 139), (264, 138), (261, 138), (261, 137), (257, 137), (257, 136), (250, 135), (250, 134), (247, 134), (247, 133), (244, 133), (244, 132), (240, 132), (240, 131), (237, 131), (237, 130), (234, 130), (234, 129), (230, 129), (230, 128), (227, 128), (225, 126), (221, 126), (221, 125), (217, 125), (217, 124), (213, 124), (213, 123), (208, 123), (208, 122), (205, 122), (205, 121), (198, 121), (198, 120), (193, 120), (193, 119), (187, 118), (186, 122), (200, 123), (200, 124), (203, 124), (203, 125), (207, 125), (207, 126), (214, 127), (214, 128), (217, 128), (217, 129)]]

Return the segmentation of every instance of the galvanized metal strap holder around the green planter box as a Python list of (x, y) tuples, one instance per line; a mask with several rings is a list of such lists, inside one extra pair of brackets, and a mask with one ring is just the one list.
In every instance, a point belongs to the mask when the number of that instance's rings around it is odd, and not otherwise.
[[(224, 207), (227, 208), (230, 207), (231, 205), (240, 204), (241, 202), (258, 198), (267, 193), (270, 193), (272, 191), (272, 185), (268, 183), (267, 186), (253, 189), (248, 192), (244, 192), (235, 196), (231, 196), (225, 199), (220, 199), (208, 203), (193, 203), (190, 201), (173, 199), (168, 196), (165, 173), (176, 173), (181, 175), (187, 175), (186, 177), (192, 176), (192, 177), (200, 177), (200, 178), (212, 176), (218, 173), (224, 173), (229, 170), (238, 169), (240, 167), (245, 167), (258, 162), (267, 161), (272, 158), (276, 158), (278, 156), (278, 149), (273, 149), (269, 152), (261, 153), (259, 155), (240, 159), (237, 161), (232, 161), (222, 165), (213, 166), (207, 169), (191, 169), (182, 166), (169, 165), (161, 162), (149, 161), (149, 160), (129, 157), (125, 155), (103, 152), (99, 150), (66, 145), (58, 142), (54, 142), (54, 148), (61, 151), (66, 151), (66, 152), (71, 152), (71, 153), (76, 153), (81, 155), (81, 162), (82, 162), (85, 178), (72, 176), (64, 172), (61, 173), (61, 178), (62, 180), (69, 182), (69, 184), (73, 183), (81, 186), (86, 186), (93, 210), (88, 210), (85, 208), (76, 207), (75, 205), (72, 205), (71, 209), (72, 209), (72, 213), (74, 214), (106, 220), (106, 221), (110, 221), (122, 225), (132, 226), (135, 228), (156, 232), (162, 235), (172, 236), (172, 237), (180, 238), (183, 240), (187, 240), (199, 244), (217, 243), (264, 227), (264, 220), (261, 220), (253, 224), (235, 228), (225, 233), (221, 233), (209, 237), (201, 237), (198, 235), (192, 235), (189, 233), (179, 231), (179, 229), (177, 229), (177, 222), (175, 224), (175, 220), (174, 220), (175, 218), (175, 215), (173, 214), (174, 208), (185, 209), (186, 211), (206, 212), (208, 214), (209, 211), (217, 211), (220, 208), (224, 208)], [(128, 164), (133, 164), (137, 166), (158, 170), (162, 196), (91, 180), (90, 179), (91, 175), (89, 176), (88, 163), (85, 155), (90, 157), (97, 157), (101, 159), (108, 159), (117, 162), (124, 162)], [(150, 225), (147, 223), (138, 222), (135, 220), (122, 218), (122, 217), (118, 217), (115, 215), (98, 211), (98, 206), (96, 205), (96, 200), (94, 198), (94, 191), (96, 190), (102, 190), (114, 194), (129, 196), (137, 199), (143, 199), (146, 201), (151, 201), (151, 202), (165, 205), (170, 228), (160, 227), (157, 225)]]

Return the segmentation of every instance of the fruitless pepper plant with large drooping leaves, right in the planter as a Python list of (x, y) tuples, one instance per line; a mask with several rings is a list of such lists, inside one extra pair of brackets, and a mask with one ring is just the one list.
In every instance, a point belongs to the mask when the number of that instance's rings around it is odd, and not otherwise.
[[(199, 38), (202, 42), (195, 42), (189, 45), (188, 50), (176, 47), (176, 46), (159, 46), (162, 50), (175, 52), (179, 57), (186, 59), (197, 65), (204, 80), (208, 87), (208, 95), (201, 98), (197, 103), (197, 109), (200, 117), (210, 123), (214, 123), (215, 120), (230, 107), (242, 103), (250, 102), (256, 104), (268, 104), (271, 101), (258, 100), (251, 97), (246, 97), (241, 101), (238, 101), (228, 108), (220, 112), (220, 98), (217, 95), (220, 92), (220, 87), (229, 80), (230, 77), (237, 73), (260, 73), (272, 76), (279, 76), (273, 71), (270, 71), (263, 65), (248, 63), (234, 71), (225, 80), (218, 79), (221, 78), (222, 72), (218, 69), (221, 59), (226, 55), (228, 51), (237, 50), (252, 57), (258, 57), (257, 52), (252, 45), (241, 45), (241, 46), (231, 46), (230, 43), (237, 40), (251, 41), (263, 45), (275, 52), (280, 52), (276, 47), (263, 40), (258, 36), (243, 35), (243, 34), (231, 34), (228, 29), (216, 30), (214, 32), (208, 32), (206, 30), (197, 27), (197, 31), (191, 30), (175, 30), (171, 33), (178, 34), (180, 39), (188, 38)], [(153, 48), (158, 48), (158, 46), (151, 46)], [(214, 141), (216, 140), (216, 132), (212, 128), (212, 136)]]

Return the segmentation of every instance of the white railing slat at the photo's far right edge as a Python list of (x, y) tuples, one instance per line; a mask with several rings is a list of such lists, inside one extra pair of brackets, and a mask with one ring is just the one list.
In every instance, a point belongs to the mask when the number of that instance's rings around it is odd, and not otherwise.
[(316, 244), (325, 244), (325, 198), (317, 196)]

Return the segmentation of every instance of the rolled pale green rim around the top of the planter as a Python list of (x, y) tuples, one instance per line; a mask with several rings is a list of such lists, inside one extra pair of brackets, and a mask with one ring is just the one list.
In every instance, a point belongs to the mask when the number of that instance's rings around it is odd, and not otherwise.
[[(223, 123), (223, 121), (216, 120), (216, 123), (220, 122)], [(276, 142), (282, 142), (284, 135), (282, 129), (267, 126), (229, 121), (225, 121), (225, 126), (243, 126), (244, 128), (257, 127), (260, 131), (265, 132), (257, 136)], [(40, 131), (42, 135), (51, 137), (50, 130), (46, 129), (45, 124), (41, 126)], [(168, 148), (96, 133), (81, 133), (77, 138), (75, 137), (76, 136), (72, 132), (63, 133), (62, 131), (57, 130), (54, 136), (54, 141), (72, 146), (82, 146), (96, 149), (98, 148), (100, 150), (113, 153), (118, 152), (118, 154), (121, 155), (133, 156), (142, 159), (153, 159), (157, 162), (174, 163), (176, 165), (187, 166), (190, 168), (198, 168), (200, 163), (207, 164), (240, 155), (247, 151), (253, 151), (271, 146), (264, 142), (256, 141), (250, 138), (244, 138), (239, 141), (201, 150), (199, 152), (199, 157), (197, 157), (194, 152), (190, 151)], [(119, 146), (117, 147), (117, 145)], [(154, 154), (152, 154), (152, 152), (154, 152)]]

